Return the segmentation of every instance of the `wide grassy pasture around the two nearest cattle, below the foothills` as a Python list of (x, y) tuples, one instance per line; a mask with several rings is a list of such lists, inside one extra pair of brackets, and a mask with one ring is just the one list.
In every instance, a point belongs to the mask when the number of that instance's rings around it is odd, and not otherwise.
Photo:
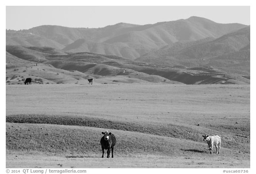
[[(105, 130), (114, 159), (100, 158)], [(6, 85), (6, 167), (249, 168), (250, 86)]]

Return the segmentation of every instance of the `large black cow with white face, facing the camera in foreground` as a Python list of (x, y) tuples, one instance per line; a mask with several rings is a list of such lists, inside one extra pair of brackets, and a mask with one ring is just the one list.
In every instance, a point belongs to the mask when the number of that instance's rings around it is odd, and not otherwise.
[(110, 155), (110, 149), (112, 151), (112, 158), (114, 158), (113, 156), (113, 150), (114, 150), (114, 146), (116, 144), (116, 137), (114, 134), (112, 134), (111, 132), (108, 133), (108, 131), (105, 132), (101, 132), (102, 134), (104, 134), (104, 136), (100, 139), (100, 144), (101, 144), (101, 148), (102, 148), (102, 157), (104, 157), (104, 149), (107, 150), (107, 158), (109, 158)]

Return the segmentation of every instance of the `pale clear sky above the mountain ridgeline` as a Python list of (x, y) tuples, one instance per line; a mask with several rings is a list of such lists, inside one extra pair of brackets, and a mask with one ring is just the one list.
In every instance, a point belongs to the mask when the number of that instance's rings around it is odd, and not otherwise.
[(191, 16), (250, 25), (250, 6), (6, 6), (6, 29), (40, 25), (98, 28), (120, 22), (145, 25)]

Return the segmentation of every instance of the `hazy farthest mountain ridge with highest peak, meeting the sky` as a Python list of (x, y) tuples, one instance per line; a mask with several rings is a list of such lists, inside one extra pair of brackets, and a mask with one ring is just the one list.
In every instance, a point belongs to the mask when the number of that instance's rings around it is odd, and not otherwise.
[(135, 59), (179, 41), (218, 38), (247, 27), (190, 17), (148, 25), (117, 23), (103, 28), (69, 28), (44, 25), (22, 31), (6, 31), (6, 45), (49, 46), (68, 52), (92, 52)]

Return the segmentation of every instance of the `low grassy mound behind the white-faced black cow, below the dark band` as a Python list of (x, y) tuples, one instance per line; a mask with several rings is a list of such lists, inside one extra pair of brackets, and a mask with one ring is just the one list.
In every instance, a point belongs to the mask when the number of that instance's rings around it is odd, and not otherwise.
[[(6, 147), (12, 151), (39, 151), (47, 154), (101, 156), (100, 138), (103, 128), (65, 126), (52, 124), (6, 124)], [(116, 155), (167, 155), (196, 153), (208, 154), (205, 143), (149, 135), (131, 131), (109, 129), (117, 139)], [(222, 148), (225, 155), (238, 152)]]

